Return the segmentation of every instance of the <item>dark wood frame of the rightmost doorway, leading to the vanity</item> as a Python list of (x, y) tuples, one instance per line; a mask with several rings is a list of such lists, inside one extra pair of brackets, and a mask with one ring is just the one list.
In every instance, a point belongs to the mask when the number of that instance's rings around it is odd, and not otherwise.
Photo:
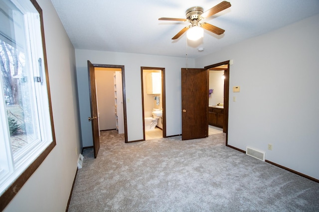
[[(229, 108), (229, 61), (224, 61), (218, 64), (210, 65), (204, 67), (204, 69), (209, 70), (222, 65), (227, 65), (226, 69), (220, 69), (224, 71), (225, 81), (224, 81), (224, 126), (223, 132), (226, 133), (226, 146), (228, 146), (228, 108)], [(208, 96), (207, 96), (208, 99)], [(208, 107), (207, 107), (208, 113)], [(208, 126), (207, 126), (208, 127)]]

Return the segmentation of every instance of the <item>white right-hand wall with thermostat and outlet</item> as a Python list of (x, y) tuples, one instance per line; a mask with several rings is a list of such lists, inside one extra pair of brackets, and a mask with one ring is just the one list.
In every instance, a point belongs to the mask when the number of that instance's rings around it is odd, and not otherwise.
[[(195, 60), (232, 59), (228, 144), (319, 179), (319, 15)], [(239, 93), (232, 87), (240, 86)], [(236, 96), (236, 102), (233, 102)], [(273, 150), (268, 150), (268, 143)]]

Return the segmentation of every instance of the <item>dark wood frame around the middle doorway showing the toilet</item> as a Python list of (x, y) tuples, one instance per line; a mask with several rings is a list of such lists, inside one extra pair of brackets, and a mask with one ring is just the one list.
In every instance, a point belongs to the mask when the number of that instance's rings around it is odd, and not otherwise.
[(143, 70), (161, 71), (161, 98), (162, 98), (162, 120), (163, 120), (163, 138), (166, 138), (166, 96), (165, 96), (165, 68), (141, 67), (141, 87), (142, 87), (142, 113), (143, 113), (143, 141), (145, 141), (145, 116), (144, 116), (144, 85)]

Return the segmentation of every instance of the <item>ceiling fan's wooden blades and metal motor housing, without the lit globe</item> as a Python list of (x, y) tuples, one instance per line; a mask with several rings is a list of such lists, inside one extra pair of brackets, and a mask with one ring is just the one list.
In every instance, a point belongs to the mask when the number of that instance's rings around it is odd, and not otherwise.
[[(217, 35), (221, 35), (225, 32), (225, 30), (211, 25), (209, 23), (199, 23), (201, 20), (208, 18), (228, 7), (230, 7), (231, 4), (228, 1), (222, 1), (216, 6), (213, 6), (212, 8), (208, 9), (207, 11), (203, 12), (203, 8), (199, 6), (193, 6), (186, 10), (186, 18), (159, 18), (159, 20), (168, 20), (168, 21), (188, 21), (191, 24), (189, 26), (184, 27), (182, 30), (180, 30), (173, 38), (172, 40), (175, 40), (179, 38), (184, 32), (186, 32), (188, 29), (200, 29), (200, 27), (215, 33)], [(188, 37), (188, 36), (187, 36)], [(196, 39), (192, 39), (196, 40)]]

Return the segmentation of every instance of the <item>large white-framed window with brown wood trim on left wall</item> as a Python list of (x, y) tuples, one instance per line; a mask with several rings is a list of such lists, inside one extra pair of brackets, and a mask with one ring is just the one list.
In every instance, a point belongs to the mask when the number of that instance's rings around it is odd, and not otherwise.
[(0, 1), (0, 211), (55, 146), (42, 10)]

